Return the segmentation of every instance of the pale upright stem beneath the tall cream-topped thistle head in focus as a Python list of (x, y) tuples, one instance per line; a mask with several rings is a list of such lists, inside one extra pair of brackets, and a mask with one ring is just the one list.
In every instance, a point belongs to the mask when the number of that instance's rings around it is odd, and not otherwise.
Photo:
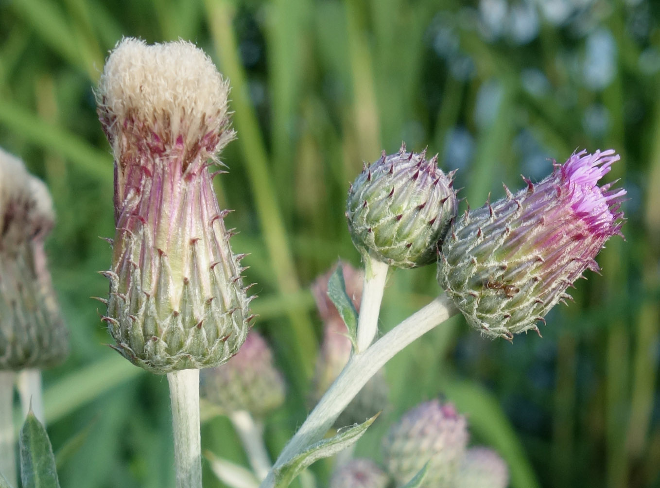
[(170, 372), (167, 379), (172, 402), (176, 486), (202, 488), (199, 369)]

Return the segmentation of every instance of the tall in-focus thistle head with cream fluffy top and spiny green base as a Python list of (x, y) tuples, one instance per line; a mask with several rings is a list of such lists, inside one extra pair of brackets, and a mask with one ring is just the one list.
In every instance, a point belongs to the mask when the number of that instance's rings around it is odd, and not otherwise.
[(96, 91), (115, 159), (108, 313), (115, 348), (156, 373), (216, 366), (248, 333), (243, 268), (210, 160), (234, 137), (228, 83), (189, 42), (122, 40)]

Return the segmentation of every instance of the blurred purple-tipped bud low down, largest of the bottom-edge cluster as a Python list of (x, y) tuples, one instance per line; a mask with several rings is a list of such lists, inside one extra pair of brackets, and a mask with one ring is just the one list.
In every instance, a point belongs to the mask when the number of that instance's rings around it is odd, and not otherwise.
[(395, 423), (383, 440), (385, 468), (399, 485), (428, 462), (422, 488), (451, 487), (468, 440), (467, 422), (451, 403), (421, 403)]

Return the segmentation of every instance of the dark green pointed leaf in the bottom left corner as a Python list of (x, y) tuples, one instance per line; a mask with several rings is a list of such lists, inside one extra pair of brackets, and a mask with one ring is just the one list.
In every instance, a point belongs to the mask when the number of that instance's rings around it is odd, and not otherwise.
[(31, 410), (20, 429), (18, 442), (23, 488), (59, 488), (55, 456), (48, 434)]

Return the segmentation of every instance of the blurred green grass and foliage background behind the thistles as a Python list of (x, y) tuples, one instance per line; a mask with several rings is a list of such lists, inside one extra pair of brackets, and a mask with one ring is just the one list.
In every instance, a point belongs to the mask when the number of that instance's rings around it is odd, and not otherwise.
[[(0, 146), (53, 193), (48, 243), (71, 329), (45, 373), (64, 487), (174, 485), (168, 388), (110, 351), (100, 322), (114, 234), (112, 158), (94, 85), (122, 36), (192, 40), (232, 83), (238, 141), (216, 178), (249, 252), (255, 327), (288, 380), (267, 421), (275, 456), (306, 416), (321, 334), (308, 285), (341, 257), (348, 182), (385, 149), (428, 146), (459, 168), (473, 207), (539, 180), (576, 148), (622, 155), (626, 242), (599, 256), (536, 335), (486, 341), (462, 318), (387, 365), (391, 406), (358, 444), (438, 395), (469, 415), (474, 442), (506, 458), (512, 486), (660, 487), (660, 6), (653, 0), (0, 0)], [(466, 206), (465, 201), (462, 203)], [(440, 293), (433, 266), (396, 271), (386, 331)], [(208, 416), (207, 416), (208, 417)], [(204, 448), (245, 463), (223, 417)], [(331, 464), (314, 466), (319, 486)], [(211, 471), (206, 487), (222, 486)]]

